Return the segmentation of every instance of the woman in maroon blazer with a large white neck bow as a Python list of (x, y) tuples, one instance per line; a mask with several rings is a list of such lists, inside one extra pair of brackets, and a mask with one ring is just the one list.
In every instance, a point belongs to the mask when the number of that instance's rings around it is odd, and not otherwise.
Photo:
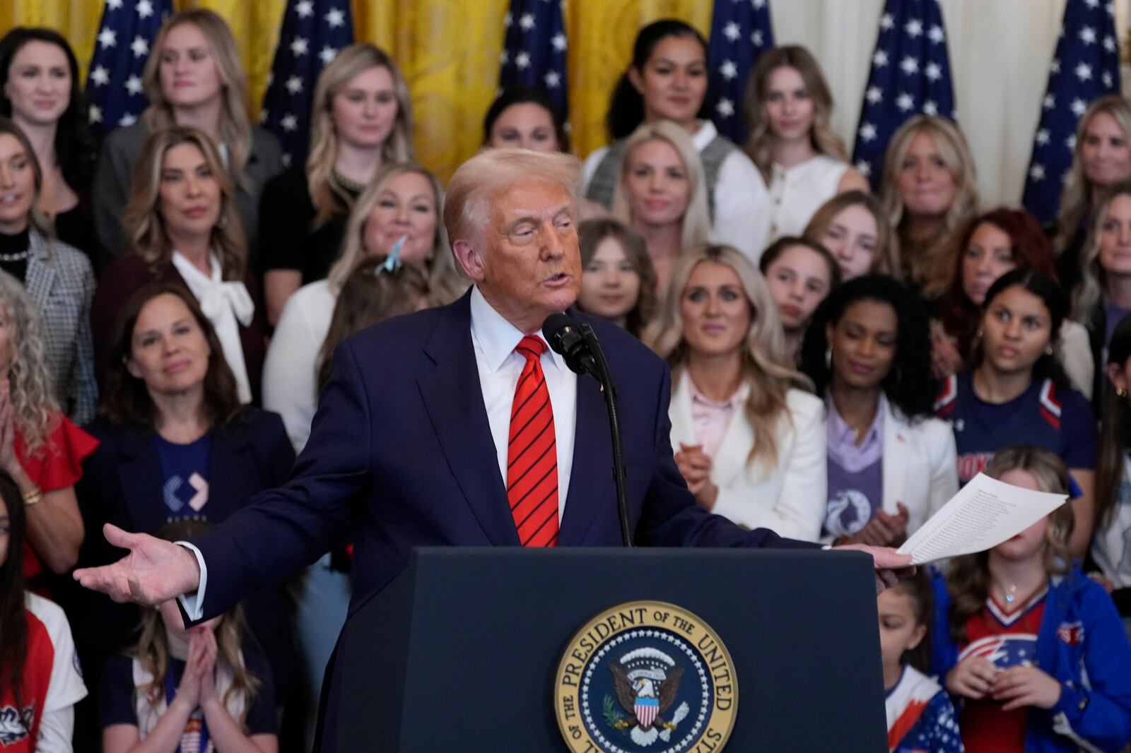
[(118, 314), (139, 288), (188, 288), (216, 329), (241, 403), (259, 399), (266, 324), (236, 208), (236, 190), (202, 131), (174, 126), (146, 140), (123, 222), (132, 251), (111, 265), (90, 319), (100, 379)]

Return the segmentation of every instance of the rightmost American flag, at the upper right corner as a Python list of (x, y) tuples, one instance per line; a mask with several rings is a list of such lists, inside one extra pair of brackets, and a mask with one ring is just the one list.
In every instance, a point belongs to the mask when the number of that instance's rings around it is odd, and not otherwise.
[(1043, 223), (1056, 218), (1080, 115), (1096, 97), (1120, 90), (1120, 45), (1115, 40), (1114, 3), (1068, 0), (1021, 200)]

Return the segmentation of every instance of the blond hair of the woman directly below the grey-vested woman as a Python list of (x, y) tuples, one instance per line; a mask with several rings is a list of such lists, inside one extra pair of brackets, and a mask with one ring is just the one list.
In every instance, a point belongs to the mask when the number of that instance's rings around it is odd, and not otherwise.
[(622, 223), (632, 226), (632, 213), (624, 191), (624, 176), (630, 170), (632, 153), (648, 141), (666, 141), (680, 155), (688, 180), (691, 182), (691, 197), (683, 213), (683, 225), (680, 233), (680, 248), (692, 249), (707, 242), (710, 236), (710, 214), (707, 209), (707, 176), (703, 173), (699, 150), (691, 141), (688, 132), (670, 120), (657, 120), (654, 123), (642, 123), (624, 142), (624, 158), (621, 161), (621, 175), (613, 190), (612, 215)]

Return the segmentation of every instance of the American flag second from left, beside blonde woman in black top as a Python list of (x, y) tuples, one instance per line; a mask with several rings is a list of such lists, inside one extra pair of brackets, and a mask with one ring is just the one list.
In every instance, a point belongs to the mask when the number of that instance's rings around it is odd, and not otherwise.
[(287, 0), (259, 121), (283, 146), (283, 164), (302, 165), (310, 146), (310, 107), (322, 67), (353, 44), (349, 0)]

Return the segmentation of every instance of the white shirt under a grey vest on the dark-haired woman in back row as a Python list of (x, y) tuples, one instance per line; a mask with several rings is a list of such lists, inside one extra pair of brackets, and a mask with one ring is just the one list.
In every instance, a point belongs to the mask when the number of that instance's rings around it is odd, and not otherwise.
[[(709, 120), (699, 121), (699, 130), (691, 137), (696, 149), (702, 152), (718, 136)], [(585, 161), (584, 181), (589, 185), (597, 165), (608, 147), (601, 147)], [(581, 191), (585, 196), (585, 191)], [(711, 241), (733, 245), (757, 265), (769, 243), (770, 194), (758, 167), (737, 148), (726, 156), (718, 168), (715, 183), (715, 223)]]

